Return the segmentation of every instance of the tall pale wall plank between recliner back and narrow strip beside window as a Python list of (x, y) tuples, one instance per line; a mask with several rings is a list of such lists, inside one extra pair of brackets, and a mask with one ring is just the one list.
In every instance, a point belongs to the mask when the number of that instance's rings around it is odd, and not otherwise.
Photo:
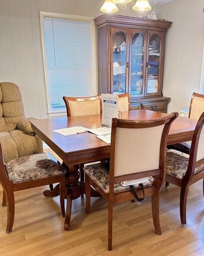
[(17, 23), (25, 83), (27, 115), (40, 117), (40, 102), (37, 88), (37, 72), (34, 55), (30, 1), (17, 0)]

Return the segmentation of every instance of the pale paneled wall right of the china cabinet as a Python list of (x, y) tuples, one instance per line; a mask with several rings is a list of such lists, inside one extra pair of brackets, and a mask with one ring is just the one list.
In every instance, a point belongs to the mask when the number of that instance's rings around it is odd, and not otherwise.
[[(168, 112), (188, 108), (199, 92), (204, 46), (203, 0), (172, 1), (157, 7), (157, 17), (172, 20), (167, 33), (163, 93), (172, 98)], [(196, 17), (196, 18), (195, 18)], [(181, 100), (182, 99), (182, 100)]]

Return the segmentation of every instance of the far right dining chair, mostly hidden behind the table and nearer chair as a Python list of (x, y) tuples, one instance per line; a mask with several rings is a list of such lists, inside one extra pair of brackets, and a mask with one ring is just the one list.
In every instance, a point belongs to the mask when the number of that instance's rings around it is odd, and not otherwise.
[[(188, 117), (198, 120), (203, 112), (204, 112), (204, 95), (200, 93), (193, 93), (190, 101)], [(190, 147), (191, 147), (191, 141), (168, 145), (168, 148), (176, 149), (186, 154), (190, 154)]]

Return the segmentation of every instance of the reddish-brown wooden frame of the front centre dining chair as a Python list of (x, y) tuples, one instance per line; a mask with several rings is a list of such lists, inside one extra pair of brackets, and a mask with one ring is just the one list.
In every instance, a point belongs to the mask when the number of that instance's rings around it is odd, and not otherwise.
[[(91, 186), (93, 186), (108, 201), (108, 250), (112, 250), (113, 204), (135, 199), (130, 190), (114, 193), (114, 183), (119, 183), (126, 180), (133, 180), (148, 176), (155, 177), (153, 185), (145, 187), (144, 193), (145, 196), (152, 196), (153, 223), (156, 230), (156, 234), (161, 235), (161, 227), (159, 223), (159, 193), (165, 180), (167, 136), (170, 129), (170, 125), (176, 119), (177, 116), (178, 113), (171, 113), (170, 115), (167, 115), (161, 119), (154, 119), (148, 121), (129, 121), (116, 118), (113, 119), (111, 130), (111, 158), (109, 183), (110, 192), (106, 194), (93, 180), (91, 180), (91, 178), (88, 175), (85, 174), (86, 214), (88, 214), (90, 211)], [(164, 125), (159, 152), (159, 169), (114, 177), (116, 128), (119, 127), (136, 129), (150, 128), (158, 125)], [(135, 190), (138, 196), (142, 197), (141, 189)]]

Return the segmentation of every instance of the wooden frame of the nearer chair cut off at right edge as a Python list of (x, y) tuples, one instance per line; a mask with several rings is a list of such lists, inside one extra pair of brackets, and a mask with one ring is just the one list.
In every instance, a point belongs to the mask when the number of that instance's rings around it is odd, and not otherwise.
[[(189, 162), (187, 172), (184, 175), (183, 179), (180, 180), (176, 177), (166, 175), (166, 187), (169, 186), (169, 183), (172, 183), (176, 186), (181, 187), (180, 194), (180, 217), (181, 217), (181, 226), (186, 227), (186, 204), (187, 204), (187, 194), (190, 185), (194, 184), (198, 180), (204, 179), (204, 169), (195, 173), (195, 168), (204, 164), (204, 158), (196, 161), (197, 151), (198, 151), (198, 142), (201, 134), (201, 130), (204, 125), (204, 113), (198, 119), (197, 125), (195, 126), (195, 131), (193, 134), (193, 139), (190, 148)], [(203, 180), (203, 192), (204, 192), (204, 180)]]

